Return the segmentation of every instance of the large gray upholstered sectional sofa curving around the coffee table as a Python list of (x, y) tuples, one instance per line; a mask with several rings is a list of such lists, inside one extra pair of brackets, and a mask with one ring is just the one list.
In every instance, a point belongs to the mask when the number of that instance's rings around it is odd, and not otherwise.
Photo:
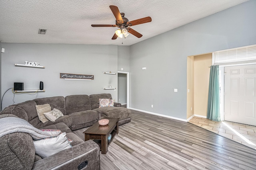
[[(19, 117), (38, 129), (59, 129), (73, 140), (70, 149), (52, 156), (41, 158), (35, 154), (33, 140), (27, 133), (11, 133), (0, 137), (1, 169), (77, 169), (83, 161), (88, 165), (83, 170), (100, 169), (100, 149), (93, 141), (83, 141), (72, 133), (88, 127), (103, 117), (119, 118), (119, 125), (131, 121), (130, 109), (114, 103), (116, 107), (100, 107), (99, 99), (112, 99), (111, 94), (71, 95), (39, 98), (14, 104), (0, 112), (0, 118)], [(36, 105), (50, 104), (62, 111), (63, 115), (55, 122), (42, 123), (37, 115)]]

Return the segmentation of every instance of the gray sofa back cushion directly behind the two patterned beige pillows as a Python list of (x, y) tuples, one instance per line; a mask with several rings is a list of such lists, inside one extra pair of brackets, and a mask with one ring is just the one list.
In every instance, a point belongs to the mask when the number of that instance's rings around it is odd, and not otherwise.
[(34, 99), (33, 101), (35, 101), (37, 105), (50, 104), (51, 109), (59, 109), (63, 115), (66, 115), (65, 98), (63, 96)]

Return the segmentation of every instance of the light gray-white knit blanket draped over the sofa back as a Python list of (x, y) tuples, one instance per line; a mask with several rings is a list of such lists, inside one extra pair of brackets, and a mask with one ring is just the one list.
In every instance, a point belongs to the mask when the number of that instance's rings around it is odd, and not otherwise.
[(0, 119), (0, 137), (15, 132), (28, 133), (33, 140), (51, 137), (50, 134), (35, 128), (24, 119), (18, 117), (4, 117)]

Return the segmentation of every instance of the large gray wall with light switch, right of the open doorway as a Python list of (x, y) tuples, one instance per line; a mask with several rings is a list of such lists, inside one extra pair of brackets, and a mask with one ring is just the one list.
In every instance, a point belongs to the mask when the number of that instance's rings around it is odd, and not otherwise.
[(256, 44), (255, 9), (251, 0), (131, 45), (130, 107), (186, 119), (187, 57)]

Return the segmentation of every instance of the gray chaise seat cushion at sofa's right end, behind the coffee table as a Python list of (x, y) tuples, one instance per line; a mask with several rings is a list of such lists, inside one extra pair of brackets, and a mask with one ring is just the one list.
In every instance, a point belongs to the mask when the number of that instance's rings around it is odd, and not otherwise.
[[(131, 117), (130, 109), (125, 107), (102, 107), (94, 109), (94, 111), (98, 111), (99, 113), (106, 115), (108, 118), (119, 118), (119, 120)], [(101, 119), (102, 116), (99, 118)]]

